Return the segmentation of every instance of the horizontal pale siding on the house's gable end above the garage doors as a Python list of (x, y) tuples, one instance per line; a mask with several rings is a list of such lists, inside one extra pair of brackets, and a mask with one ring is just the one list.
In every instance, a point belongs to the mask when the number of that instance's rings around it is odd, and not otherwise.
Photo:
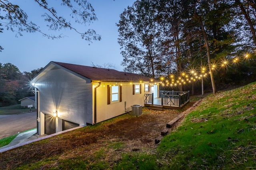
[(36, 82), (42, 113), (80, 125), (92, 124), (92, 84), (74, 74), (54, 67)]

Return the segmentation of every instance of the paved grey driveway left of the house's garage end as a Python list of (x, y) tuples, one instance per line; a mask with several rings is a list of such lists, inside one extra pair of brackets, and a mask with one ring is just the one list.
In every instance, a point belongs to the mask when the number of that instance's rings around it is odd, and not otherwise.
[(0, 115), (0, 139), (36, 128), (36, 112)]

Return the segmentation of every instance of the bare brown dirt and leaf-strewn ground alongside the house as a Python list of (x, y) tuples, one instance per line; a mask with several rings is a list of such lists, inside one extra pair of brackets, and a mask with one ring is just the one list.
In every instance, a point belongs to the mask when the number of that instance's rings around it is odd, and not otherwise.
[(105, 161), (116, 161), (121, 158), (124, 152), (154, 152), (156, 147), (154, 140), (166, 127), (166, 123), (193, 104), (194, 102), (190, 102), (182, 110), (164, 109), (163, 111), (156, 111), (144, 107), (143, 114), (140, 116), (127, 113), (92, 127), (84, 127), (9, 150), (0, 154), (0, 169), (12, 169), (24, 163), (31, 164), (47, 158), (56, 158), (54, 164), (41, 167), (48, 169), (58, 166), (58, 160), (65, 158), (82, 156), (84, 159), (89, 159), (90, 155), (93, 155), (97, 150), (109, 148), (112, 143), (121, 143), (122, 147), (108, 149), (107, 156), (104, 158)]

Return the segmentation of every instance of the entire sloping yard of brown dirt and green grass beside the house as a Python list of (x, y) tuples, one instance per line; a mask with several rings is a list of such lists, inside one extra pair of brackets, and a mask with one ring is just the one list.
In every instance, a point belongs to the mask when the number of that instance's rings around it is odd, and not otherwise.
[[(168, 110), (144, 108), (4, 152), (0, 169), (256, 169), (255, 107), (256, 82), (207, 96), (157, 146), (149, 136)], [(153, 116), (161, 120), (146, 122)]]

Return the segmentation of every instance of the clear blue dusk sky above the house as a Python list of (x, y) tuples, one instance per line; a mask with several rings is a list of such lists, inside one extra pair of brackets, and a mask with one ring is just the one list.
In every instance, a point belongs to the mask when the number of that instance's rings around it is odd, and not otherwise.
[[(116, 23), (124, 9), (131, 6), (135, 0), (88, 0), (95, 10), (98, 21), (94, 21), (86, 27), (83, 25), (74, 27), (80, 31), (88, 28), (94, 29), (102, 36), (101, 41), (93, 41), (90, 45), (73, 30), (48, 31), (48, 27), (45, 26), (48, 23), (41, 17), (45, 11), (36, 2), (32, 0), (10, 0), (10, 2), (20, 6), (28, 15), (28, 20), (40, 26), (42, 31), (54, 35), (62, 34), (66, 37), (52, 40), (40, 33), (26, 32), (23, 32), (21, 37), (15, 37), (15, 32), (8, 31), (6, 27), (3, 27), (3, 33), (0, 33), (2, 40), (0, 45), (4, 50), (0, 52), (0, 63), (12, 63), (20, 69), (20, 72), (30, 72), (44, 67), (50, 61), (86, 66), (92, 66), (92, 62), (98, 65), (111, 63), (114, 64), (114, 69), (123, 70), (120, 65), (123, 57), (120, 54), (120, 45), (117, 40), (118, 27)], [(55, 0), (54, 3), (60, 4), (60, 0)], [(60, 9), (55, 8), (58, 15), (70, 14), (65, 13), (65, 10), (61, 9), (60, 5), (58, 6)]]

